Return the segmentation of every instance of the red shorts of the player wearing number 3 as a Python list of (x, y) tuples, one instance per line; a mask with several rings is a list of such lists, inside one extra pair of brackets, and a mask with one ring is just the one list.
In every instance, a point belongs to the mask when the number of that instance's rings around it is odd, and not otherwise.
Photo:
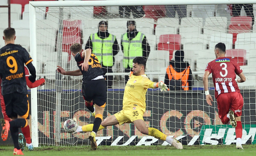
[(234, 115), (240, 117), (242, 115), (241, 109), (244, 105), (244, 100), (239, 92), (221, 93), (217, 97), (217, 104), (219, 110), (219, 118), (222, 119), (228, 114), (229, 110), (234, 111)]

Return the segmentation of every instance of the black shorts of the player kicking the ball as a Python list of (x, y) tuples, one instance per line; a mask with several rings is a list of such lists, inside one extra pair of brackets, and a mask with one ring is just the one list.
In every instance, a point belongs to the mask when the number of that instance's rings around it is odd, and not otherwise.
[(83, 82), (82, 94), (86, 101), (93, 100), (93, 103), (98, 106), (106, 105), (107, 84), (104, 79)]

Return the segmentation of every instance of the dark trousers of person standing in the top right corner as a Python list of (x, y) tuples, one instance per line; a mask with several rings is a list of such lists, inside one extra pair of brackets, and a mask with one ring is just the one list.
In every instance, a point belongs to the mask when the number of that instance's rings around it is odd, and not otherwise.
[(246, 16), (252, 17), (252, 25), (254, 24), (253, 6), (252, 4), (233, 4), (232, 15), (240, 16), (241, 9), (244, 7)]

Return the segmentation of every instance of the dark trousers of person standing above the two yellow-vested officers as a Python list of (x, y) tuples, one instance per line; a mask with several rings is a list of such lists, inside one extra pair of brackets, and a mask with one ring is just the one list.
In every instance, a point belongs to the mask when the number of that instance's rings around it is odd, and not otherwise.
[(120, 17), (130, 18), (130, 12), (135, 18), (141, 18), (144, 15), (142, 6), (119, 6)]

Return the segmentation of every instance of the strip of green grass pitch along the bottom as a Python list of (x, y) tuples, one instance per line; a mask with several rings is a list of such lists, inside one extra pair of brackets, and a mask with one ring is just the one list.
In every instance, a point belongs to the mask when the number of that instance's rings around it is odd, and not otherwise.
[[(235, 145), (183, 146), (175, 149), (172, 146), (99, 146), (91, 151), (90, 146), (79, 147), (40, 147), (34, 151), (23, 151), (27, 156), (255, 156), (256, 145), (243, 145), (244, 150)], [(13, 147), (0, 146), (0, 156), (13, 155)]]

